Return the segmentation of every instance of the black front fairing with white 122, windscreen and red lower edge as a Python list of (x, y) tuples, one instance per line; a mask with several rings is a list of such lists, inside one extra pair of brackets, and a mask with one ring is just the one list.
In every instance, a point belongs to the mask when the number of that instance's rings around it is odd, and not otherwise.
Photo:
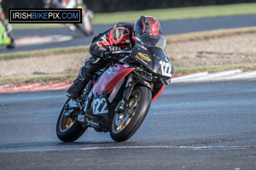
[[(165, 53), (166, 39), (161, 35), (143, 34), (137, 37), (137, 44), (132, 49), (131, 56), (124, 59), (128, 64), (140, 65), (144, 71), (154, 76), (152, 101), (157, 99), (172, 78), (173, 67)], [(155, 80), (157, 77), (158, 80)], [(165, 84), (163, 84), (164, 82)]]

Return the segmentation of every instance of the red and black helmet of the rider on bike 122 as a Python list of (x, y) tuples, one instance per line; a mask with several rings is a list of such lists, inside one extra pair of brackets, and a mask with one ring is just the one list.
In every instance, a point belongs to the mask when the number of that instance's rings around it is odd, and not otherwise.
[(157, 36), (162, 35), (162, 28), (160, 22), (152, 16), (142, 15), (135, 23), (134, 36), (140, 36), (144, 33)]

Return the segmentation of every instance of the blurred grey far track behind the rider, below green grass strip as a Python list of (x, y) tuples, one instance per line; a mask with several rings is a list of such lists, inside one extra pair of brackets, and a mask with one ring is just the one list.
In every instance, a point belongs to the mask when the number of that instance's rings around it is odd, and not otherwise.
[[(95, 37), (100, 32), (108, 30), (112, 26), (113, 25), (93, 26), (94, 34), (90, 37), (84, 37), (77, 31), (69, 31), (67, 27), (15, 30), (15, 38), (61, 35), (61, 37), (71, 37), (72, 39), (64, 42), (51, 42), (38, 45), (21, 46), (16, 47), (13, 50), (2, 48), (0, 49), (0, 53), (14, 53), (18, 51), (31, 51), (38, 49), (67, 48), (81, 45), (90, 45), (90, 42), (93, 37)], [(249, 14), (189, 20), (167, 20), (161, 21), (161, 26), (164, 35), (180, 34), (195, 31), (211, 31), (218, 29), (250, 27), (256, 26), (256, 15)]]

